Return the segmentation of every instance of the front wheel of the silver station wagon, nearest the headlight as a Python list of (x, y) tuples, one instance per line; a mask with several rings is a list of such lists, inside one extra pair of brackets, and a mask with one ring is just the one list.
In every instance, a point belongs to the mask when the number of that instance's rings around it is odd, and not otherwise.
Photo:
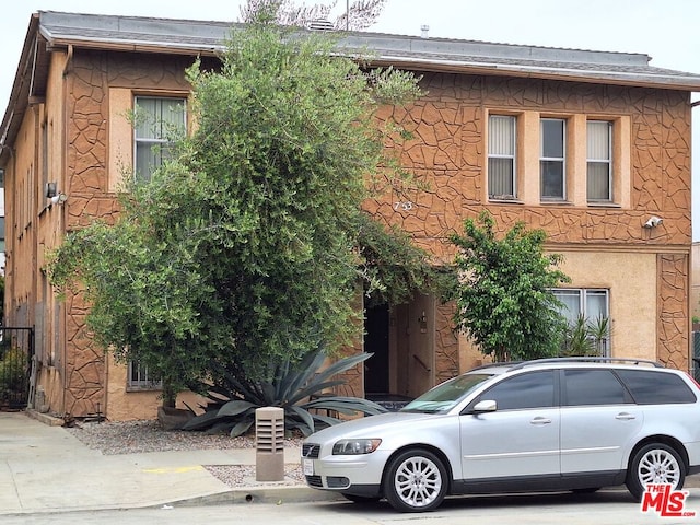
[(400, 512), (432, 511), (447, 492), (447, 470), (433, 453), (406, 451), (389, 464), (384, 495)]

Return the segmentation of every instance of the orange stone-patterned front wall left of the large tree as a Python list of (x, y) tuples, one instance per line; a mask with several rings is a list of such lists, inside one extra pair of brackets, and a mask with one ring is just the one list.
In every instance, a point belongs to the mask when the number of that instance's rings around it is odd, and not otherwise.
[[(127, 86), (151, 94), (188, 90), (184, 70), (192, 59), (145, 58), (140, 54), (77, 51), (72, 59), (67, 77), (68, 231), (95, 220), (112, 221), (118, 213), (107, 180), (108, 89)], [(106, 358), (85, 330), (88, 308), (82, 298), (67, 298), (66, 310), (65, 411), (79, 417), (94, 413), (97, 407), (105, 409)]]

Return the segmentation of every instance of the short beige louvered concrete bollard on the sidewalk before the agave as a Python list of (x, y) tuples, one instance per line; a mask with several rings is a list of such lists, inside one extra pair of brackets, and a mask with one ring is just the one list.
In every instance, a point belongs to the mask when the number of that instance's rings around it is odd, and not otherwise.
[(255, 479), (284, 479), (284, 409), (264, 407), (255, 410)]

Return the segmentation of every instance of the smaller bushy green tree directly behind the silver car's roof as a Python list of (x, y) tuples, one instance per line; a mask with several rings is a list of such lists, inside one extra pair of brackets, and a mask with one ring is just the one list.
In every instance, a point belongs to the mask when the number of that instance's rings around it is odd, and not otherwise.
[(497, 361), (551, 357), (561, 347), (567, 322), (551, 289), (569, 278), (557, 268), (561, 255), (544, 253), (546, 237), (518, 221), (499, 238), (488, 211), (451, 236), (458, 248), (455, 324)]

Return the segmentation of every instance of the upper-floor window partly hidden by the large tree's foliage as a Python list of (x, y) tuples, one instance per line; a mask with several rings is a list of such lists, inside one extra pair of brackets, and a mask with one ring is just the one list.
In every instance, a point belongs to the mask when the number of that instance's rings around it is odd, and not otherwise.
[(184, 130), (184, 98), (135, 98), (133, 167), (137, 180), (151, 179), (151, 174), (167, 159), (172, 139)]

